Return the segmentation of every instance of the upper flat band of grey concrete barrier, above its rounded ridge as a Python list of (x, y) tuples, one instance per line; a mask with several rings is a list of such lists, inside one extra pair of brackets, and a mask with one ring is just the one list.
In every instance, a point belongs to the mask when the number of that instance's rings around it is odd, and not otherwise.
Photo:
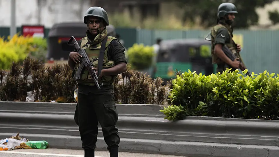
[[(28, 106), (28, 107), (27, 107)], [(116, 104), (120, 116), (164, 117), (161, 105)], [(0, 112), (74, 114), (76, 103), (0, 101)]]

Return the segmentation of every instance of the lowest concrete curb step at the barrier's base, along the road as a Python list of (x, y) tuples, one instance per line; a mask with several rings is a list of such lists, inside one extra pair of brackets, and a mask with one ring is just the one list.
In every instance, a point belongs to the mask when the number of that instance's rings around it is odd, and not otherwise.
[[(10, 136), (0, 133), (0, 138)], [(81, 149), (79, 136), (57, 136), (46, 134), (21, 134), (32, 140), (47, 140), (51, 148)], [(104, 139), (98, 137), (96, 150), (107, 151)], [(121, 138), (121, 152), (152, 153), (191, 157), (278, 157), (276, 146), (255, 146), (236, 144), (216, 144), (203, 142), (171, 142), (163, 140), (144, 140)]]

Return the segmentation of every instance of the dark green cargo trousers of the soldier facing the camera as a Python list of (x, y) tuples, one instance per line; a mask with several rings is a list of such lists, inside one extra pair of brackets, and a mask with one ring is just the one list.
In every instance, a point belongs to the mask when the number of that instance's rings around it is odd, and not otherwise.
[(82, 148), (94, 150), (98, 135), (98, 122), (102, 127), (107, 149), (118, 148), (120, 138), (116, 122), (118, 113), (111, 91), (96, 94), (78, 92), (78, 104), (75, 112), (75, 122), (79, 126)]

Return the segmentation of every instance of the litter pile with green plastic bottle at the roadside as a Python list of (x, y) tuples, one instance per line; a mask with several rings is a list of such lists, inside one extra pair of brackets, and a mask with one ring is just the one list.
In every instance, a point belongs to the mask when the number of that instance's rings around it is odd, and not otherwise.
[(33, 148), (46, 149), (48, 148), (48, 143), (47, 141), (29, 141), (27, 138), (20, 137), (19, 133), (10, 138), (0, 140), (0, 151)]

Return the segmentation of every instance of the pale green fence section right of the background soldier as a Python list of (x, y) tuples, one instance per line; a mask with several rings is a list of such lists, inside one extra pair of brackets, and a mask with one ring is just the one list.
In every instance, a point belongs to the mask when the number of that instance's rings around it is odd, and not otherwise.
[(267, 70), (279, 73), (279, 31), (246, 31), (237, 30), (234, 34), (243, 36), (240, 52), (246, 67), (252, 72), (262, 73)]

